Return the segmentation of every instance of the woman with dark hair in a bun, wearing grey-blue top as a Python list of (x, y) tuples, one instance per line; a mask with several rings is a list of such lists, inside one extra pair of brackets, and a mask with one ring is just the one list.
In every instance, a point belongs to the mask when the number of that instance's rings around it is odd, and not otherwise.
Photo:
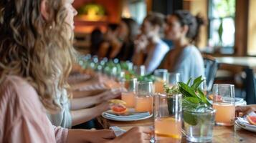
[(194, 46), (199, 29), (204, 24), (199, 16), (189, 11), (175, 11), (166, 19), (166, 39), (174, 44), (159, 68), (181, 74), (181, 82), (189, 78), (204, 76), (204, 61), (200, 51)]

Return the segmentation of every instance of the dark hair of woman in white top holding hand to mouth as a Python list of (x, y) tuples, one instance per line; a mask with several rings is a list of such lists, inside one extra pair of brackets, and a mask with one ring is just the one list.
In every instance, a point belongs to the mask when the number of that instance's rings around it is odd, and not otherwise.
[(153, 26), (163, 27), (165, 16), (157, 12), (150, 12), (146, 18)]

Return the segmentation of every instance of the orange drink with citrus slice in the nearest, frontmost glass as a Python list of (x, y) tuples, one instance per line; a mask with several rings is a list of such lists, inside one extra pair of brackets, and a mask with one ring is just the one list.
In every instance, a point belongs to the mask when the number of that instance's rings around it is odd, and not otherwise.
[(181, 121), (172, 117), (155, 119), (156, 142), (181, 142)]

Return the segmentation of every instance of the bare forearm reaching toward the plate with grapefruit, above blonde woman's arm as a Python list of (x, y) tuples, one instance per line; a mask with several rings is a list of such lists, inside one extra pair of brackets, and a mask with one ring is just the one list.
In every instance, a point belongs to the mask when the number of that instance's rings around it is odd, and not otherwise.
[(107, 111), (109, 108), (109, 103), (103, 102), (93, 108), (73, 110), (71, 111), (72, 126), (82, 124), (84, 122), (89, 121), (90, 119), (94, 119), (95, 117), (100, 116), (100, 114), (102, 114), (103, 112)]

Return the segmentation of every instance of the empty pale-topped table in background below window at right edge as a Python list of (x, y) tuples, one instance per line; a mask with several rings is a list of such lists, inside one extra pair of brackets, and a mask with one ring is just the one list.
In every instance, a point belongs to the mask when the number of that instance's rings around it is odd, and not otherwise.
[[(256, 57), (253, 56), (223, 56), (215, 57), (219, 64), (229, 64), (232, 66), (242, 66), (246, 78), (244, 87), (246, 92), (245, 101), (247, 104), (256, 104), (256, 83), (253, 69), (256, 69)], [(256, 141), (255, 141), (256, 142)]]

